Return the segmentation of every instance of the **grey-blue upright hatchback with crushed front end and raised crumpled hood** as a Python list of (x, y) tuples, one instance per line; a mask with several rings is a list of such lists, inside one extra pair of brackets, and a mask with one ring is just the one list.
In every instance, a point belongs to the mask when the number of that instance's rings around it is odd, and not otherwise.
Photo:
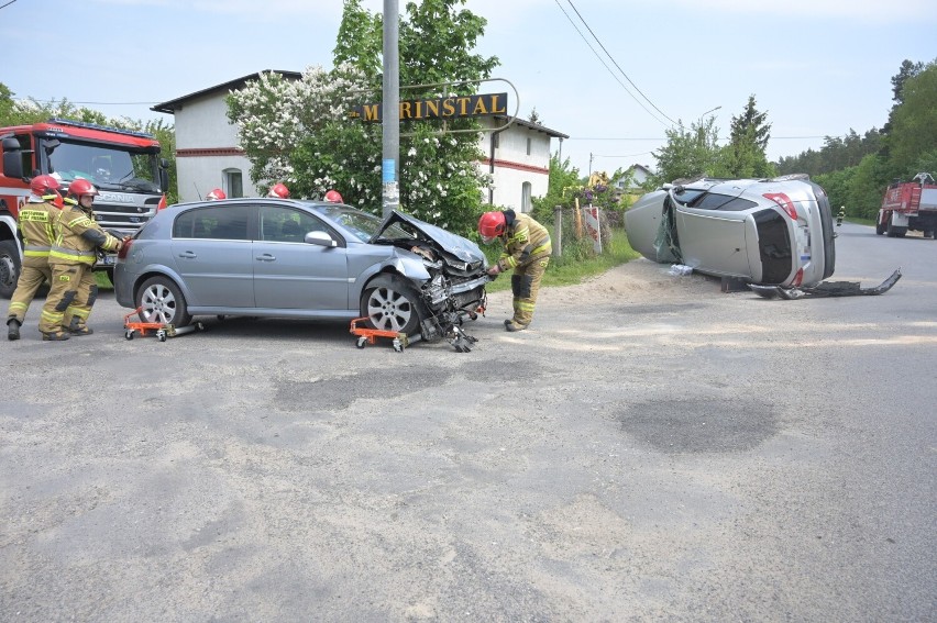
[(159, 211), (121, 249), (113, 282), (143, 322), (367, 318), (436, 341), (484, 307), (486, 270), (475, 243), (403, 212), (255, 198)]

